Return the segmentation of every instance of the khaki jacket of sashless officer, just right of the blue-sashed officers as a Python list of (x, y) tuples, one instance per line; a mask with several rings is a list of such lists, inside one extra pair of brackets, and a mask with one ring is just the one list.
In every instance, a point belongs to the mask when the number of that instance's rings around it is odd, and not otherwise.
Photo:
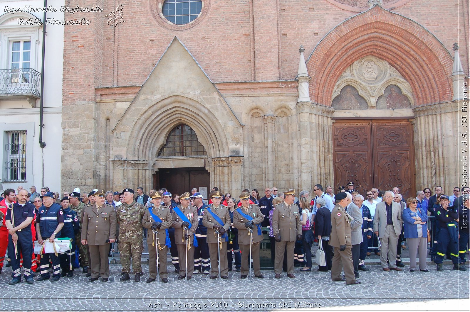
[(296, 241), (297, 234), (302, 235), (298, 205), (290, 205), (290, 211), (284, 202), (275, 205), (274, 208), (273, 235), (281, 234), (281, 240), (284, 242)]

